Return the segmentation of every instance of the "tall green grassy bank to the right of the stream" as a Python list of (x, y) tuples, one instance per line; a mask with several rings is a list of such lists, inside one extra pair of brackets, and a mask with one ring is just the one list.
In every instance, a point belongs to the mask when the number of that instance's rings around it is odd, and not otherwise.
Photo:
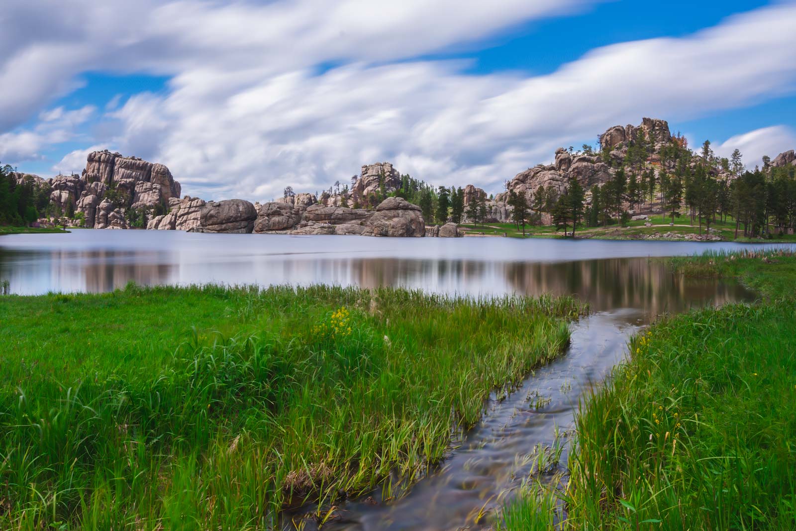
[(796, 256), (673, 266), (736, 276), (764, 300), (665, 318), (633, 338), (630, 361), (576, 418), (564, 492), (529, 489), (502, 529), (550, 529), (554, 498), (564, 529), (796, 529)]

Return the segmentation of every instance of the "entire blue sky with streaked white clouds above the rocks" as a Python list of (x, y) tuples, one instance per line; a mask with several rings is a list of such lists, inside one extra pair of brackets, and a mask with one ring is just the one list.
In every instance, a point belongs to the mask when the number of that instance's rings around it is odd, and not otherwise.
[(3, 0), (0, 162), (92, 150), (270, 201), (389, 161), (490, 193), (666, 119), (747, 166), (796, 149), (796, 1)]

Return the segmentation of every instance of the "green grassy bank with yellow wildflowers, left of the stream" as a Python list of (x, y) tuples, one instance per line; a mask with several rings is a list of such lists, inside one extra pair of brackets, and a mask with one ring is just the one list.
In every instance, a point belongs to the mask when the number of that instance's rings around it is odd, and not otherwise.
[(287, 503), (420, 473), (579, 310), (334, 287), (2, 297), (0, 528), (267, 529)]

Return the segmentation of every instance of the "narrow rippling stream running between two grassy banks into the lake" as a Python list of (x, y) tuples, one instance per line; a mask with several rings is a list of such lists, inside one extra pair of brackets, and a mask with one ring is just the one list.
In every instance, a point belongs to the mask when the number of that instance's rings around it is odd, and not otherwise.
[[(624, 308), (573, 323), (572, 342), (564, 355), (529, 374), (503, 400), (491, 398), (482, 421), (458, 441), (443, 467), (408, 487), (397, 500), (385, 502), (383, 489), (378, 489), (339, 505), (334, 521), (322, 529), (447, 531), (488, 526), (490, 518), (483, 513), (494, 513), (528, 477), (537, 445), (559, 444), (563, 451), (558, 470), (565, 470), (578, 400), (605, 380), (626, 354), (630, 336), (646, 322), (642, 311)], [(287, 516), (286, 521), (300, 521), (296, 514)], [(311, 520), (303, 525), (318, 529)]]

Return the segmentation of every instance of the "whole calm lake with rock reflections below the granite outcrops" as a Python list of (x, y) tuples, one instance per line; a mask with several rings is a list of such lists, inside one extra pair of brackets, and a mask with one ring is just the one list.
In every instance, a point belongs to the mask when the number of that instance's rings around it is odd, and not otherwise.
[(12, 293), (111, 291), (139, 284), (400, 286), (461, 295), (578, 295), (595, 310), (680, 310), (736, 299), (734, 284), (675, 279), (648, 257), (732, 243), (512, 238), (368, 238), (76, 230), (0, 236)]

